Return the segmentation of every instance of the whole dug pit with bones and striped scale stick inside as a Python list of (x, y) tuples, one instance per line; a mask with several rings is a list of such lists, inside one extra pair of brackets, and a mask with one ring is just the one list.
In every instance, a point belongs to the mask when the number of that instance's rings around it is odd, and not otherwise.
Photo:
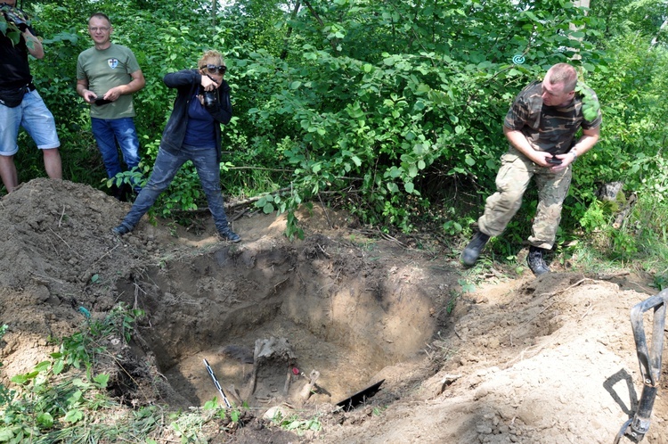
[[(378, 249), (393, 248), (395, 261), (378, 260)], [(421, 282), (401, 252), (323, 234), (217, 243), (145, 269), (118, 292), (134, 294), (148, 314), (139, 333), (176, 393), (171, 403), (223, 403), (206, 359), (232, 404), (335, 404), (415, 357), (435, 333), (425, 285), (434, 283)], [(258, 362), (256, 347), (270, 341), (290, 352)]]

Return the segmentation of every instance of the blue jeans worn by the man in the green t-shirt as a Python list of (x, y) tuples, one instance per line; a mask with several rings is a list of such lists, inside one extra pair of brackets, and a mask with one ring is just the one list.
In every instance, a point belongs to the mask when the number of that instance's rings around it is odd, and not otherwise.
[(97, 119), (91, 118), (91, 128), (95, 142), (100, 148), (104, 169), (107, 177), (115, 177), (123, 171), (118, 158), (118, 148), (123, 153), (123, 160), (127, 169), (134, 169), (139, 165), (139, 137), (134, 128), (134, 119), (125, 117), (122, 119)]

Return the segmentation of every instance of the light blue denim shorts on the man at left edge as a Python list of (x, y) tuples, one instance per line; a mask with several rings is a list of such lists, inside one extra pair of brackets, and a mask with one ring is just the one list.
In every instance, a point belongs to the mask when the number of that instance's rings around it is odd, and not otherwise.
[(24, 95), (23, 102), (15, 108), (0, 104), (0, 156), (13, 156), (19, 151), (19, 127), (28, 132), (40, 150), (61, 146), (53, 114), (37, 90)]

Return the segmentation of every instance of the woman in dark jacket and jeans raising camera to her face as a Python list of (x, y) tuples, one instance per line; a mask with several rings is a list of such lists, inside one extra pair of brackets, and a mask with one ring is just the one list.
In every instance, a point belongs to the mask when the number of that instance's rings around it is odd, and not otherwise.
[(163, 79), (165, 85), (176, 88), (174, 108), (162, 133), (149, 182), (126, 218), (113, 229), (116, 234), (132, 231), (159, 194), (172, 183), (183, 163), (191, 160), (207, 195), (218, 234), (232, 243), (241, 240), (228, 225), (220, 188), (220, 124), (232, 119), (230, 86), (223, 79), (226, 67), (217, 51), (204, 53), (198, 66), (198, 70), (173, 72)]

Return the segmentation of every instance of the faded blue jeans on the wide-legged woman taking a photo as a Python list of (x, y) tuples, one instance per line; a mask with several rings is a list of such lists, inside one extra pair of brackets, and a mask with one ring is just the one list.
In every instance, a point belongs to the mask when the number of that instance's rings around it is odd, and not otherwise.
[(220, 189), (220, 162), (217, 160), (217, 150), (190, 145), (183, 145), (177, 154), (167, 152), (160, 147), (149, 183), (143, 187), (121, 224), (132, 230), (146, 211), (158, 200), (160, 193), (167, 190), (176, 173), (187, 160), (192, 160), (197, 169), (200, 184), (207, 195), (208, 210), (214, 217), (216, 229), (219, 233), (224, 232), (228, 226), (223, 194)]

